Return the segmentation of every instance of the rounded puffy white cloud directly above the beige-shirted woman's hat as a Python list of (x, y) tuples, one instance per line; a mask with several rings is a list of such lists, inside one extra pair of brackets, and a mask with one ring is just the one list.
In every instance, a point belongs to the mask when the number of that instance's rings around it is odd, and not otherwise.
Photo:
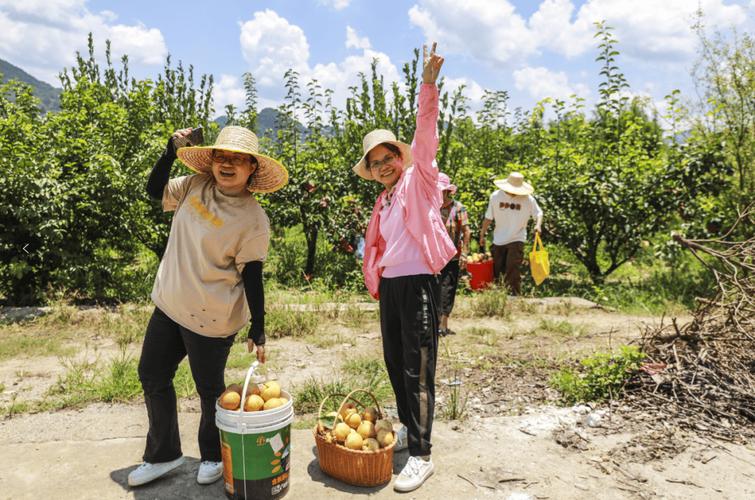
[(304, 31), (270, 9), (241, 25), (241, 52), (261, 87), (278, 85), (287, 69), (308, 71)]

